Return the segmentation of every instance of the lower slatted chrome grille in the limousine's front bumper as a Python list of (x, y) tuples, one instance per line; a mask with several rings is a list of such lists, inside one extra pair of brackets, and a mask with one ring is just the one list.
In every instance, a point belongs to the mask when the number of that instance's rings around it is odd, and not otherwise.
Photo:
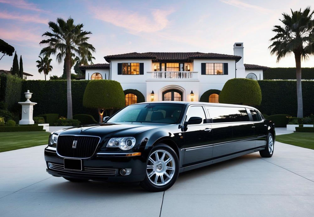
[(64, 169), (63, 164), (59, 163), (51, 163), (52, 168), (51, 170), (59, 171), (59, 172), (66, 172), (66, 173), (73, 173), (73, 174), (80, 174), (80, 175), (106, 175), (106, 176), (113, 176), (116, 175), (118, 169), (115, 168), (97, 168), (97, 167), (83, 167), (82, 171), (72, 171)]

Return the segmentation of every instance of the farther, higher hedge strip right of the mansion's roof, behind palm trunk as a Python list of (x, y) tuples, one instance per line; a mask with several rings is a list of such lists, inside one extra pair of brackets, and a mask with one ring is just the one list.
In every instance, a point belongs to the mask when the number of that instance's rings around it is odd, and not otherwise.
[[(264, 80), (268, 79), (296, 79), (295, 68), (269, 68), (263, 73)], [(302, 79), (314, 79), (314, 68), (302, 68)]]

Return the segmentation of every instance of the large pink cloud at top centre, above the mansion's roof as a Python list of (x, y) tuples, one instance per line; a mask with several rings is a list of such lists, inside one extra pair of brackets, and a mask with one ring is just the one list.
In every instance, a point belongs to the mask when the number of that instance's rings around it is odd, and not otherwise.
[(174, 12), (174, 10), (155, 9), (151, 11), (151, 16), (148, 17), (123, 9), (114, 10), (106, 8), (106, 10), (103, 10), (101, 8), (90, 7), (90, 10), (94, 13), (96, 19), (125, 28), (132, 34), (140, 32), (152, 33), (164, 29), (170, 23), (167, 16)]

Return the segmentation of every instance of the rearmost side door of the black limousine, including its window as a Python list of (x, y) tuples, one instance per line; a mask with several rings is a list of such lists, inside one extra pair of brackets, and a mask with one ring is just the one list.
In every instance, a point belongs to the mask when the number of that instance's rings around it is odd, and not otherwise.
[(266, 145), (267, 125), (264, 123), (261, 114), (255, 109), (248, 109), (254, 126), (254, 135), (256, 137), (255, 147)]

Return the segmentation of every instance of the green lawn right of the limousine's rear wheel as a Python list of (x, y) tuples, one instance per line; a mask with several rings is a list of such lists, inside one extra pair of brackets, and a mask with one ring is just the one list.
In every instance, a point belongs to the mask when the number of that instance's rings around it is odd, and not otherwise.
[(294, 132), (276, 136), (276, 141), (314, 149), (314, 133)]

